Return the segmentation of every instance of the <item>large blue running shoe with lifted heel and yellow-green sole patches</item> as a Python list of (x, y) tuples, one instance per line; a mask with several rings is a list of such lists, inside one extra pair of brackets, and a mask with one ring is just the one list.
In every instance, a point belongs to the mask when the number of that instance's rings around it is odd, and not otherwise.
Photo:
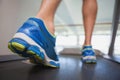
[(29, 57), (32, 63), (57, 68), (60, 64), (55, 41), (42, 20), (29, 18), (9, 41), (8, 48), (22, 57)]

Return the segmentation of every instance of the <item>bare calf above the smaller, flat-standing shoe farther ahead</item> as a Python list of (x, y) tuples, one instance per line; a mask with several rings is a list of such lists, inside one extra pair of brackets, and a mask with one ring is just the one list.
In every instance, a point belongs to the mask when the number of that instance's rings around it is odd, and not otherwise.
[(97, 0), (83, 0), (82, 12), (85, 30), (84, 45), (91, 45), (91, 37), (97, 14)]

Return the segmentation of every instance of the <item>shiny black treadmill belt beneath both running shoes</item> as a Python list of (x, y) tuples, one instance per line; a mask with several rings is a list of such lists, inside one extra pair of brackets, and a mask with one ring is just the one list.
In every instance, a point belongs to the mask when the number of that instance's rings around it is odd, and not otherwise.
[(60, 55), (59, 69), (28, 60), (0, 63), (0, 80), (120, 80), (120, 64), (97, 56), (97, 64), (83, 64), (78, 55)]

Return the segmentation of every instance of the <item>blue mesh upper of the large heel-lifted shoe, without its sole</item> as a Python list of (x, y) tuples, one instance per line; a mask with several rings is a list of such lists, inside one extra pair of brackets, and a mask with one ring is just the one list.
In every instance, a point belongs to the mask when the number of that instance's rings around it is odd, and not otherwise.
[(42, 20), (29, 18), (17, 33), (24, 33), (29, 36), (45, 50), (46, 55), (50, 59), (58, 61), (58, 57), (54, 49), (56, 38), (47, 31)]

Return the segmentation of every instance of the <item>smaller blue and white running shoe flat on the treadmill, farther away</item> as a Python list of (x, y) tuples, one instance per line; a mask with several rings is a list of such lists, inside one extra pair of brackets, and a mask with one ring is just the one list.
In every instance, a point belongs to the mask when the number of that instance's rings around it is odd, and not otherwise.
[(84, 63), (96, 63), (96, 55), (92, 46), (84, 46), (82, 49), (82, 61)]

